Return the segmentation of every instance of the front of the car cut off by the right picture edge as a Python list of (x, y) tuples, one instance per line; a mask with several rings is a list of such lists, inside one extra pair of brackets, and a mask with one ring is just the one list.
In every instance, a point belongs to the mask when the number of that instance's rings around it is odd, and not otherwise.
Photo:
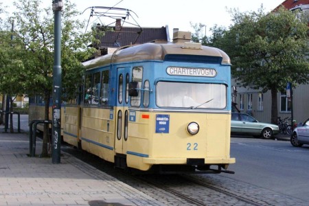
[(301, 124), (301, 126), (297, 126), (293, 130), (292, 135), (290, 136), (290, 144), (295, 147), (301, 147), (304, 144), (309, 144), (309, 119)]

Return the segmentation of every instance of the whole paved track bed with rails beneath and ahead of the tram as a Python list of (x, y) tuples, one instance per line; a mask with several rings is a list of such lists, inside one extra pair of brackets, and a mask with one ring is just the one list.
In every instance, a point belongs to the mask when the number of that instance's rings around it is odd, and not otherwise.
[[(235, 181), (220, 174), (131, 174), (88, 152), (62, 146), (62, 151), (115, 177), (164, 205), (297, 205), (295, 198)], [(304, 205), (304, 204), (303, 204)]]

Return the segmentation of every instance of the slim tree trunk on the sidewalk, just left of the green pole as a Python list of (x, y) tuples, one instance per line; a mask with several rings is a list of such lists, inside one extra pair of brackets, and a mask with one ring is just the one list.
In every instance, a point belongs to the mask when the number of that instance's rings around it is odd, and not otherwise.
[[(45, 115), (44, 120), (49, 120), (49, 98), (50, 95), (45, 94), (44, 101), (45, 101)], [(48, 157), (48, 143), (49, 142), (49, 124), (44, 124), (43, 130), (43, 146), (42, 146), (42, 157)]]

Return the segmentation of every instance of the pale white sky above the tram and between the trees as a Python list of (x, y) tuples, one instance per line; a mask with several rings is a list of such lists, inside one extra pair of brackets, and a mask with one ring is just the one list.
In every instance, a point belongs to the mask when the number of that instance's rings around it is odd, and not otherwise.
[[(52, 0), (41, 0), (43, 8), (52, 5)], [(64, 5), (66, 0), (62, 0)], [(10, 5), (12, 1), (4, 1), (3, 5)], [(80, 16), (81, 19), (89, 19), (89, 7), (104, 6), (125, 8), (131, 10), (130, 14), (133, 19), (129, 18), (129, 22), (135, 21), (141, 27), (165, 27), (168, 25), (170, 34), (173, 28), (178, 28), (180, 31), (193, 32), (190, 23), (205, 25), (206, 35), (209, 35), (209, 28), (214, 25), (228, 27), (231, 24), (231, 16), (227, 12), (230, 9), (238, 9), (240, 12), (258, 11), (263, 5), (266, 12), (270, 12), (284, 0), (71, 0), (71, 3), (77, 5), (77, 10), (84, 13)], [(136, 14), (136, 15), (135, 15)], [(95, 22), (95, 17), (89, 21), (90, 25)], [(135, 20), (135, 21), (134, 21)], [(111, 19), (101, 19), (108, 24)], [(109, 21), (109, 22), (108, 22)], [(128, 25), (132, 26), (132, 25)]]

